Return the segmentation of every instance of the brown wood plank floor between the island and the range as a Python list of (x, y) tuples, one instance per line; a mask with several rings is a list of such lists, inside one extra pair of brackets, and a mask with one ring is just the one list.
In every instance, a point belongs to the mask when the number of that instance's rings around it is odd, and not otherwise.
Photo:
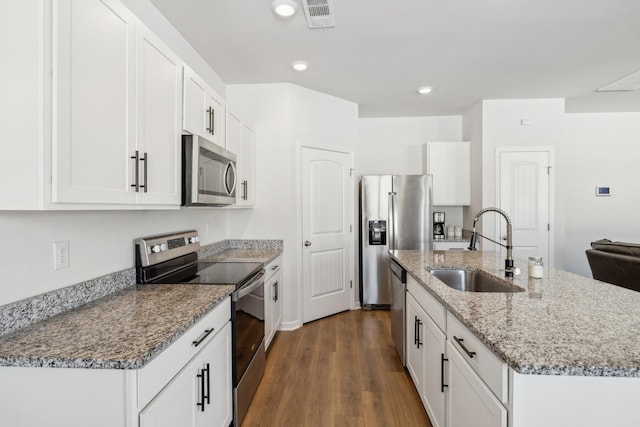
[(388, 311), (348, 311), (272, 342), (242, 427), (428, 426)]

